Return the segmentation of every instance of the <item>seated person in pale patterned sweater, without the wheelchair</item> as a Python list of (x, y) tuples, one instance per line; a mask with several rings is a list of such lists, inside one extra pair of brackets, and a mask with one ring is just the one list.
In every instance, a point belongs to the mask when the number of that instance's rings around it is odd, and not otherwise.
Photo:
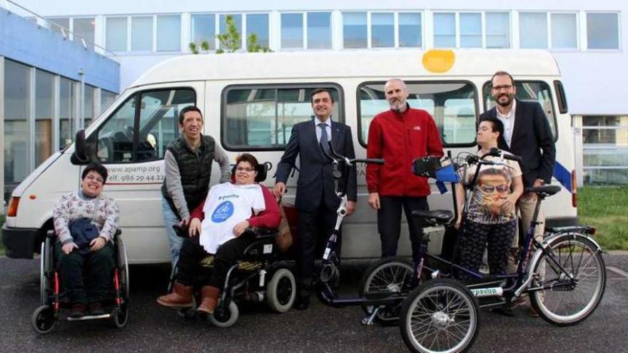
[(91, 315), (104, 314), (102, 301), (111, 289), (119, 210), (116, 201), (102, 193), (107, 174), (103, 165), (87, 165), (81, 188), (61, 196), (54, 206), (55, 253), (72, 305), (70, 317), (82, 317), (87, 309)]

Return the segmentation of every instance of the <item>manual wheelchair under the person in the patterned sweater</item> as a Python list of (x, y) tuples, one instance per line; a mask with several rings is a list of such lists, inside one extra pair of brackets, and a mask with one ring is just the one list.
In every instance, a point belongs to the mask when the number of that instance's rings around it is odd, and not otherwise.
[(83, 317), (69, 317), (62, 314), (61, 309), (69, 308), (69, 300), (61, 285), (60, 272), (56, 268), (56, 254), (54, 245), (56, 234), (54, 230), (46, 233), (46, 240), (41, 243), (40, 270), (40, 296), (41, 306), (31, 317), (31, 325), (35, 332), (46, 334), (54, 329), (56, 322), (84, 321), (91, 319), (111, 319), (118, 328), (126, 327), (128, 322), (128, 255), (121, 237), (121, 230), (116, 231), (113, 238), (113, 255), (116, 265), (112, 274), (112, 288), (108, 293), (108, 299), (103, 301), (105, 314), (85, 315)]

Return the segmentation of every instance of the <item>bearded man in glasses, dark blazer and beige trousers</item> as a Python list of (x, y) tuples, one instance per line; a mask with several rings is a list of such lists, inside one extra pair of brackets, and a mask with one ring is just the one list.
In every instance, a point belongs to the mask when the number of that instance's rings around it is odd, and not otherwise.
[[(513, 155), (521, 156), (522, 172), (525, 188), (542, 186), (552, 182), (556, 148), (554, 136), (547, 122), (547, 117), (540, 104), (515, 99), (517, 88), (510, 73), (497, 71), (491, 78), (491, 95), (497, 105), (482, 113), (480, 121), (487, 116), (499, 119), (504, 124), (504, 133), (500, 136), (498, 146)], [(510, 201), (509, 201), (510, 202)], [(517, 201), (521, 214), (524, 234), (530, 228), (530, 220), (535, 211), (537, 196), (524, 193)], [(535, 239), (542, 240), (545, 232), (545, 214), (539, 212), (535, 229)], [(518, 237), (513, 240), (513, 247), (518, 247)], [(516, 251), (514, 252), (516, 254)], [(517, 258), (509, 256), (509, 271), (516, 270)], [(530, 314), (534, 314), (530, 310)]]

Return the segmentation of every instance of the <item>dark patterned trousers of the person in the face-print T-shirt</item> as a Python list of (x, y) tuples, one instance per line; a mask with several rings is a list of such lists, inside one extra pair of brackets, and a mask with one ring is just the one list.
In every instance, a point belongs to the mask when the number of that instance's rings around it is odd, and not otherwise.
[[(465, 220), (460, 240), (460, 266), (478, 272), (482, 265), (482, 256), (488, 244), (488, 265), (491, 275), (505, 275), (508, 250), (515, 237), (517, 220), (494, 225)], [(466, 272), (458, 271), (460, 280), (472, 278)]]

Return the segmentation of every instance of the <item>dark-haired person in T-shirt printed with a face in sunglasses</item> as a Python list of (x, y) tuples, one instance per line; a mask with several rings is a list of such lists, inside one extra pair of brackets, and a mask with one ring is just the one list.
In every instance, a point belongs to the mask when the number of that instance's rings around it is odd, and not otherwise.
[[(487, 118), (477, 127), (477, 155), (485, 155), (491, 148), (497, 148), (497, 140), (504, 133), (504, 125), (497, 118)], [(495, 157), (488, 156), (491, 160)], [(507, 252), (515, 237), (517, 214), (515, 203), (523, 193), (522, 172), (513, 160), (504, 160), (503, 165), (481, 165), (477, 183), (471, 190), (467, 218), (462, 225), (460, 238), (460, 265), (478, 272), (482, 255), (488, 247), (488, 262), (491, 275), (504, 275), (507, 272)], [(467, 169), (465, 180), (472, 181), (477, 166)], [(458, 210), (462, 213), (465, 190), (462, 183), (456, 186)], [(460, 227), (462, 215), (458, 215)], [(469, 280), (470, 275), (459, 271), (457, 277)]]

